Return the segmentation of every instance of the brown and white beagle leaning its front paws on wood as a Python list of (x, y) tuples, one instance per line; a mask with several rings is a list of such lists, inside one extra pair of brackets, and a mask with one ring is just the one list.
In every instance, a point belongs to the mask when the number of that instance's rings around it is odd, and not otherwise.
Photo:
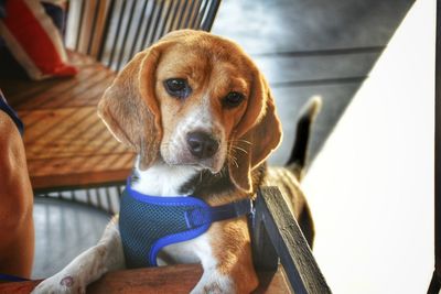
[[(308, 121), (319, 105), (313, 101)], [(312, 219), (298, 178), (299, 162), (304, 162), (294, 159), (292, 168), (266, 167), (282, 138), (280, 121), (263, 76), (232, 41), (192, 30), (165, 35), (118, 74), (98, 115), (118, 141), (138, 153), (126, 189), (140, 202), (151, 197), (170, 203), (176, 202), (170, 196), (191, 195), (192, 202), (226, 207), (252, 199), (260, 185), (276, 184), (312, 242)], [(300, 145), (304, 148), (304, 139)], [(120, 218), (131, 216), (122, 211)], [(142, 218), (133, 229), (115, 217), (97, 246), (34, 293), (85, 292), (106, 272), (126, 268), (123, 235), (153, 220)], [(250, 293), (258, 286), (244, 214), (214, 221), (200, 236), (157, 251), (151, 263), (202, 263), (204, 273), (192, 293)]]

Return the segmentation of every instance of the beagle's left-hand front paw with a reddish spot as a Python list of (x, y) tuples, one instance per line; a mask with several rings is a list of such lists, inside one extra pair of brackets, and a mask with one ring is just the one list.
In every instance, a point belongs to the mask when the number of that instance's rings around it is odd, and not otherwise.
[(58, 273), (41, 282), (32, 294), (86, 293), (86, 284), (78, 276)]

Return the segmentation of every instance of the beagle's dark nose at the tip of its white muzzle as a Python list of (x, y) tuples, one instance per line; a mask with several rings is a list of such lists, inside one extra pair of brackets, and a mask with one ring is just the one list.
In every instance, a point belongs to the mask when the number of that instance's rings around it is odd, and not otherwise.
[(205, 132), (191, 132), (186, 135), (190, 152), (197, 159), (212, 157), (219, 143), (208, 133)]

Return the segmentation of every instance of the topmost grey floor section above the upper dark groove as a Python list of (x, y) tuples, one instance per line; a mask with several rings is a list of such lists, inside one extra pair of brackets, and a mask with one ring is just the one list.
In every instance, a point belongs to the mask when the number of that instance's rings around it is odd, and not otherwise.
[(251, 55), (384, 46), (413, 2), (224, 1), (213, 32), (238, 41)]

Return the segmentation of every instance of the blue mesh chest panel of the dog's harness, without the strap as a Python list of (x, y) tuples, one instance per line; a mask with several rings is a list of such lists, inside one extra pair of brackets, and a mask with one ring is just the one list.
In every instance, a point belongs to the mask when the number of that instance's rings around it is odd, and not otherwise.
[(119, 228), (127, 266), (155, 266), (160, 249), (196, 238), (208, 229), (209, 220), (204, 216), (200, 224), (191, 224), (191, 214), (203, 211), (200, 208), (205, 204), (192, 204), (193, 200), (197, 203), (195, 198), (189, 198), (190, 202), (185, 200), (187, 197), (182, 198), (136, 197), (127, 189), (123, 192)]

